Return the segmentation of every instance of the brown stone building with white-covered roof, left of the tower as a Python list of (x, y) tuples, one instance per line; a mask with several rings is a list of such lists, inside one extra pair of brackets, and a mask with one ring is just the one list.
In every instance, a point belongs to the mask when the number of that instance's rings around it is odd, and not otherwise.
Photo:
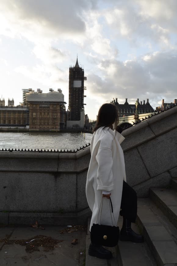
[(28, 90), (25, 96), (29, 107), (30, 130), (49, 131), (66, 127), (66, 102), (61, 89), (49, 89), (49, 93), (42, 93), (41, 89), (37, 89), (37, 92)]

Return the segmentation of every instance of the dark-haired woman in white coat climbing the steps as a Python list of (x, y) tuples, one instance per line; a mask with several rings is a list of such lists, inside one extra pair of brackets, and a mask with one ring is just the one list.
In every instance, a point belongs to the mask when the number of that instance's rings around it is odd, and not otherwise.
[[(114, 127), (116, 130), (112, 130)], [(112, 225), (107, 198), (113, 204), (115, 221), (117, 222), (121, 209), (123, 226), (120, 240), (143, 242), (143, 237), (131, 229), (131, 222), (135, 223), (137, 215), (136, 192), (126, 183), (125, 162), (123, 150), (120, 146), (125, 139), (120, 133), (117, 109), (112, 104), (103, 104), (98, 113), (98, 120), (91, 140), (91, 160), (86, 182), (86, 197), (92, 210), (90, 230), (96, 223), (100, 199), (103, 195), (103, 209), (101, 224)], [(120, 133), (118, 132), (120, 131)], [(112, 253), (102, 246), (90, 244), (88, 254), (109, 259)]]

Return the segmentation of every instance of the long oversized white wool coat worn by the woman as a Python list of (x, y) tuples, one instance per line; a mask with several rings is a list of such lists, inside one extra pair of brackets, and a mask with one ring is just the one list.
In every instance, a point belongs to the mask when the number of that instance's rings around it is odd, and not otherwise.
[[(121, 206), (123, 180), (126, 182), (124, 154), (121, 142), (125, 138), (109, 127), (100, 127), (93, 133), (90, 150), (91, 160), (87, 173), (86, 197), (92, 211), (90, 230), (96, 223), (102, 191), (111, 192), (114, 217), (117, 224)], [(98, 223), (98, 221), (97, 221)], [(103, 198), (101, 224), (112, 225), (109, 202)]]

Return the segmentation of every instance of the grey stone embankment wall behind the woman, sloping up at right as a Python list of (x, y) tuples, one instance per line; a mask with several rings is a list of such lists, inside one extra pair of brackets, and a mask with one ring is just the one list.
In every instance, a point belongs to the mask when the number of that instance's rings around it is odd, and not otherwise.
[[(177, 177), (177, 106), (123, 131), (127, 182), (139, 197)], [(0, 224), (83, 224), (90, 147), (0, 152)]]

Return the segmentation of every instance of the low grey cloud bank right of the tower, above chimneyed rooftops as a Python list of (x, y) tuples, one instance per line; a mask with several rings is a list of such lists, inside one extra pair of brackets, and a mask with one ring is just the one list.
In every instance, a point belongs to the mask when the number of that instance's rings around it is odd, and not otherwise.
[(158, 51), (126, 62), (105, 60), (98, 67), (104, 80), (92, 74), (88, 76), (92, 82), (88, 83), (92, 94), (101, 96), (104, 101), (109, 102), (113, 97), (123, 101), (124, 98), (150, 98), (154, 103), (162, 97), (168, 101), (171, 97), (170, 102), (176, 97), (176, 50)]

